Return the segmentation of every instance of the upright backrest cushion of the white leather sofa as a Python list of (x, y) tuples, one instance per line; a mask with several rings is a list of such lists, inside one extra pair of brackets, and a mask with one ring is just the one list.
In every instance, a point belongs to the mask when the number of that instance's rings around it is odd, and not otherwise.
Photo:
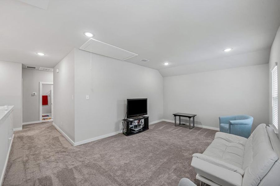
[[(277, 154), (273, 151), (266, 125), (260, 124), (251, 135), (251, 141), (245, 145), (244, 165), (246, 167), (242, 185), (257, 186), (260, 180), (268, 173), (274, 162), (278, 160)], [(249, 140), (249, 139), (248, 139)], [(247, 151), (250, 149), (252, 153)], [(252, 156), (250, 159), (248, 154)], [(247, 161), (250, 161), (249, 163)]]

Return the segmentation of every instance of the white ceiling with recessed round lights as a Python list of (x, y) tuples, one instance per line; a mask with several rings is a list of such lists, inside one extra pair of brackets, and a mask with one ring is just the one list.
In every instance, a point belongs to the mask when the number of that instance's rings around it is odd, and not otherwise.
[[(199, 72), (202, 65), (235, 67), (234, 56), (247, 59), (248, 52), (269, 55), (264, 49), (271, 47), (279, 25), (280, 1), (49, 1), (46, 10), (0, 1), (0, 60), (54, 67), (89, 39), (83, 34), (88, 31), (138, 54), (126, 61), (170, 76)], [(223, 52), (228, 47), (233, 50)], [(232, 55), (235, 60), (227, 62)], [(170, 65), (164, 66), (166, 61)], [(264, 63), (268, 59), (253, 64)], [(247, 65), (252, 61), (237, 66)]]

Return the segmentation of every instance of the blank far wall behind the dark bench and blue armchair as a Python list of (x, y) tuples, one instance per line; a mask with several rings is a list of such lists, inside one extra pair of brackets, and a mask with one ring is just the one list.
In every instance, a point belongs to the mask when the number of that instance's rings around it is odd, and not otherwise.
[(196, 124), (219, 128), (219, 116), (247, 114), (254, 129), (269, 122), (268, 77), (268, 64), (165, 77), (164, 119), (192, 113)]

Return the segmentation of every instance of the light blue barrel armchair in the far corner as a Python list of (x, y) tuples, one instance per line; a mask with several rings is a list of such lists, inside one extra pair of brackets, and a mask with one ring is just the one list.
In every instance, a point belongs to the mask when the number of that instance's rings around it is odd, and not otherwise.
[(220, 131), (249, 138), (253, 119), (248, 115), (220, 116)]

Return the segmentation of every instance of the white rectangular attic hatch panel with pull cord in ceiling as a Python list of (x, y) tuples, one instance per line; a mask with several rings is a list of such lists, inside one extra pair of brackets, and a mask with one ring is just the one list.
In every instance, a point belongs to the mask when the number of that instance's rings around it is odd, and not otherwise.
[(109, 45), (107, 43), (90, 38), (85, 44), (80, 47), (81, 50), (92, 52), (95, 54), (104, 55), (118, 60), (128, 60), (138, 54), (123, 50), (119, 47)]

